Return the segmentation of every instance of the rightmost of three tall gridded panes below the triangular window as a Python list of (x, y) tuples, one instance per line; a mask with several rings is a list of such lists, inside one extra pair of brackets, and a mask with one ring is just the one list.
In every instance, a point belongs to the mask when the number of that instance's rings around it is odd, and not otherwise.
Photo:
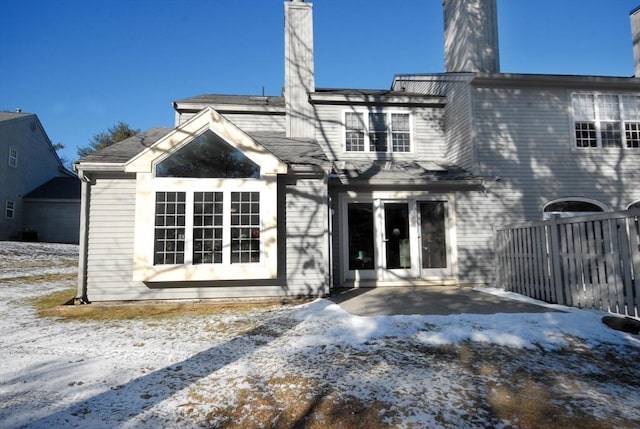
[(231, 263), (260, 262), (260, 193), (231, 193)]

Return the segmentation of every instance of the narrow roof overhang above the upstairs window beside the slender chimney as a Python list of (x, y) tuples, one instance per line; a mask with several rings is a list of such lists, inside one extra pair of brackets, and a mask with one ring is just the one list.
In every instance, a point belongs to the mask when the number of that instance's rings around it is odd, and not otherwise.
[(446, 97), (399, 93), (312, 92), (309, 94), (309, 101), (312, 104), (442, 107), (446, 104)]

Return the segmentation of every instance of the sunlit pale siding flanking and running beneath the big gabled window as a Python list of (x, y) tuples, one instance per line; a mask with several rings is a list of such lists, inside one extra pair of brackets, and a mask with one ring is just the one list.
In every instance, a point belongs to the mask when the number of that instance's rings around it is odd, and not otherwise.
[[(284, 191), (284, 186), (281, 192)], [(87, 295), (90, 301), (207, 299), (322, 295), (328, 293), (326, 183), (298, 180), (286, 198), (290, 221), (281, 223), (286, 278), (156, 284), (133, 281), (135, 179), (97, 179), (90, 187)], [(279, 239), (280, 240), (280, 239)], [(280, 259), (280, 258), (279, 258)], [(284, 265), (286, 263), (286, 265)], [(179, 287), (176, 287), (179, 286)]]

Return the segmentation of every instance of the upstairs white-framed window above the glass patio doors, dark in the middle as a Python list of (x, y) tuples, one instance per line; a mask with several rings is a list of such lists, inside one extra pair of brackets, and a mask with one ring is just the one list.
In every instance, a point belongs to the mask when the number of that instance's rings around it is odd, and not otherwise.
[(411, 114), (345, 112), (346, 152), (411, 152)]

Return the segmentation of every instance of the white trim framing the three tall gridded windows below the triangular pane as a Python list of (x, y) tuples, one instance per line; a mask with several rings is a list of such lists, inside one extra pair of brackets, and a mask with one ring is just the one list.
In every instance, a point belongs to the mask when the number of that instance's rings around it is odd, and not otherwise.
[[(186, 192), (185, 259), (183, 264), (154, 265), (155, 195), (156, 192)], [(221, 264), (192, 264), (193, 194), (223, 192), (225, 200), (231, 192), (260, 194), (260, 262), (230, 263), (223, 256)], [(273, 279), (277, 277), (277, 199), (276, 176), (261, 179), (176, 179), (154, 178), (138, 174), (136, 201), (136, 232), (133, 277), (137, 281), (177, 282), (242, 279)], [(225, 207), (228, 207), (225, 202)], [(191, 218), (189, 218), (191, 216)], [(224, 216), (230, 216), (224, 213)], [(225, 223), (228, 227), (230, 221)], [(191, 228), (191, 230), (189, 230)], [(191, 238), (190, 238), (191, 237)], [(230, 241), (224, 243), (225, 246)], [(225, 255), (223, 253), (223, 255)]]

